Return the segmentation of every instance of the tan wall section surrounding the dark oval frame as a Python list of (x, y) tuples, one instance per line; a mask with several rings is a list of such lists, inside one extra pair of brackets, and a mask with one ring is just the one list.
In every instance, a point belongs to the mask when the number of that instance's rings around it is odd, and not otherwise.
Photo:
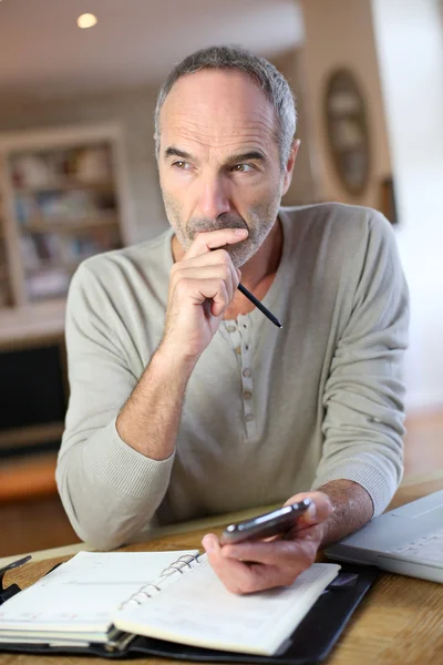
[[(305, 44), (300, 65), (309, 104), (310, 140), (318, 155), (320, 196), (379, 207), (380, 181), (391, 172), (370, 0), (300, 0), (305, 20)], [(372, 145), (371, 177), (367, 191), (350, 196), (337, 176), (329, 154), (323, 117), (327, 75), (339, 66), (350, 68), (368, 105)]]

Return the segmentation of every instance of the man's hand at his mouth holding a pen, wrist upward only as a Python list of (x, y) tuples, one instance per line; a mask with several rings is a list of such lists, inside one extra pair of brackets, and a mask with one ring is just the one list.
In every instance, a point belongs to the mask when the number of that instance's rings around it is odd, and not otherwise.
[(199, 233), (171, 270), (162, 349), (196, 361), (213, 339), (240, 279), (229, 254), (219, 249), (245, 241), (245, 228)]

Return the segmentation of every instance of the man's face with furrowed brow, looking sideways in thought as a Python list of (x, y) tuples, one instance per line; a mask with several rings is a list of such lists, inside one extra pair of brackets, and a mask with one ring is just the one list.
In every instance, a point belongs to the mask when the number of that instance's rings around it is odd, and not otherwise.
[(272, 228), (290, 182), (270, 102), (240, 72), (204, 70), (175, 83), (159, 126), (159, 182), (182, 247), (198, 232), (246, 227), (247, 239), (226, 247), (244, 265)]

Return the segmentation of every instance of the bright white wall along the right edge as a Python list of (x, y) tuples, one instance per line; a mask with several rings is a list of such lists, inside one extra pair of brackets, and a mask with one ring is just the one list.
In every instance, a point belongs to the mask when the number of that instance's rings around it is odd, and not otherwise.
[(440, 0), (373, 0), (411, 289), (409, 406), (443, 405), (443, 11)]

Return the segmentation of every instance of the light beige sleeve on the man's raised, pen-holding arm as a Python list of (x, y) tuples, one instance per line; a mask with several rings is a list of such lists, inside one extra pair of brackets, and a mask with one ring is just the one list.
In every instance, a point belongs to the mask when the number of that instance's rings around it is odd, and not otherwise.
[(173, 464), (173, 456), (165, 461), (144, 457), (116, 430), (116, 417), (138, 380), (128, 361), (127, 335), (111, 293), (83, 264), (68, 298), (71, 395), (56, 482), (75, 532), (101, 549), (121, 545), (147, 525)]

